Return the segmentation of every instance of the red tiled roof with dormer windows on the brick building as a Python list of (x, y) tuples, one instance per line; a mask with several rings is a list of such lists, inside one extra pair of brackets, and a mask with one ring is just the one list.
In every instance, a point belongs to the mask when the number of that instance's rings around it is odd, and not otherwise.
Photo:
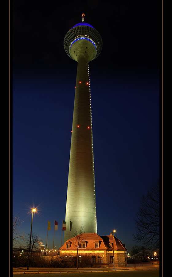
[[(96, 233), (86, 233), (86, 234), (81, 234), (80, 235), (80, 242), (81, 241), (86, 241), (87, 247), (86, 249), (94, 249), (95, 248), (95, 242), (99, 241), (99, 249), (111, 249), (112, 247), (109, 245), (110, 243), (113, 245), (113, 236), (99, 236)], [(72, 239), (68, 239), (66, 243), (60, 248), (60, 250), (69, 250), (66, 248), (66, 244), (68, 242), (71, 242), (71, 247), (70, 250), (76, 250), (76, 245), (77, 245), (77, 237), (74, 237)], [(124, 246), (124, 244), (114, 236), (114, 250), (127, 250)]]

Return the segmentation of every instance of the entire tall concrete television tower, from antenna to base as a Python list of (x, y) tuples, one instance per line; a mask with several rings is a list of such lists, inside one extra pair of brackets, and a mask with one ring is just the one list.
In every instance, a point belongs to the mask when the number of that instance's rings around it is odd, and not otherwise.
[(72, 137), (66, 200), (66, 231), (64, 243), (73, 237), (70, 232), (81, 227), (85, 233), (97, 233), (96, 195), (92, 137), (92, 108), (88, 62), (102, 49), (100, 34), (84, 22), (72, 27), (65, 35), (64, 48), (70, 58), (78, 62)]

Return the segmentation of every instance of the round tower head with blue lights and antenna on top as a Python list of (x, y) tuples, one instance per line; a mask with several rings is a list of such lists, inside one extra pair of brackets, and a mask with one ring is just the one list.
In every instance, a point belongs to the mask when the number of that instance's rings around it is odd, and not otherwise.
[[(83, 53), (87, 53), (89, 55), (89, 61), (91, 61), (98, 57), (98, 55), (100, 54), (102, 50), (103, 41), (96, 29), (92, 25), (84, 22), (84, 14), (82, 14), (82, 16), (83, 22), (74, 25), (65, 35), (64, 48), (68, 56), (73, 60), (77, 61), (77, 49), (79, 49), (77, 47), (79, 47), (78, 43), (80, 43), (80, 51), (83, 51)], [(88, 42), (87, 45), (86, 42)], [(91, 45), (94, 46), (93, 55), (91, 55), (91, 52), (93, 51)], [(87, 50), (85, 48), (87, 48)]]

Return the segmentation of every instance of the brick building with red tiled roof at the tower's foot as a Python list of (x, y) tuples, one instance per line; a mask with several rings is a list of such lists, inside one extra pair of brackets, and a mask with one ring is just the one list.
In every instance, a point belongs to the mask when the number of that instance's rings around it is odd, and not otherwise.
[(115, 267), (127, 266), (127, 249), (124, 243), (115, 236), (113, 238), (112, 234), (100, 236), (87, 233), (68, 239), (60, 248), (60, 255), (76, 257), (77, 248), (79, 262), (82, 257), (88, 257), (90, 267), (113, 267), (113, 253)]

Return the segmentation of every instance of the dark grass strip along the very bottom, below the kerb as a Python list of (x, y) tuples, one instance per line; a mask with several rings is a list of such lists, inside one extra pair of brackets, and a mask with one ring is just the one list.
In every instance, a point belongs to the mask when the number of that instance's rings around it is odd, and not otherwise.
[[(31, 274), (31, 275), (30, 275)], [(13, 277), (158, 277), (159, 270), (110, 271), (110, 272), (71, 272), (71, 273), (14, 273)]]

